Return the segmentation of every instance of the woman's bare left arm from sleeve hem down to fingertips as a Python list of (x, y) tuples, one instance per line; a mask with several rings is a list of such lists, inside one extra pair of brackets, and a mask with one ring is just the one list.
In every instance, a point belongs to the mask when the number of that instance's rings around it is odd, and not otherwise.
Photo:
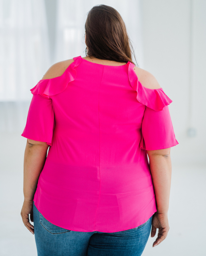
[(33, 225), (33, 198), (37, 188), (40, 173), (47, 157), (48, 144), (46, 142), (29, 140), (26, 142), (24, 154), (24, 203), (21, 209), (21, 217), (24, 225), (34, 234)]

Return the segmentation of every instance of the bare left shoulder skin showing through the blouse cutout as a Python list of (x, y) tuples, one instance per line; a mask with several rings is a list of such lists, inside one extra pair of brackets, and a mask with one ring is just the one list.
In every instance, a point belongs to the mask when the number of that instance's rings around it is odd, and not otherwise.
[(51, 78), (55, 78), (57, 76), (62, 76), (64, 71), (69, 67), (69, 65), (73, 62), (73, 59), (70, 60), (63, 60), (60, 62), (57, 62), (55, 64), (53, 64), (48, 70), (47, 72), (44, 74), (44, 76), (42, 77), (43, 79), (51, 79)]

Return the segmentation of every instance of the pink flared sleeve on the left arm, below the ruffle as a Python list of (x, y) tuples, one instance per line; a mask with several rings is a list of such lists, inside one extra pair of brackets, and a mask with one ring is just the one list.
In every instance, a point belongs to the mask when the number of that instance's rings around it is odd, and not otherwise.
[(55, 118), (52, 100), (40, 94), (33, 94), (26, 126), (21, 136), (30, 140), (46, 142), (52, 146), (54, 128)]

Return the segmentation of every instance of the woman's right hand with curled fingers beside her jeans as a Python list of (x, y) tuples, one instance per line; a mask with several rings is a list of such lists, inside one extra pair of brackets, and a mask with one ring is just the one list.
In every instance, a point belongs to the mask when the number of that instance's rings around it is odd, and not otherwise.
[(170, 229), (167, 213), (159, 213), (159, 212), (154, 213), (154, 216), (152, 218), (151, 237), (155, 236), (157, 228), (159, 229), (158, 237), (156, 238), (152, 247), (160, 244), (163, 240), (165, 240), (167, 236), (167, 233)]

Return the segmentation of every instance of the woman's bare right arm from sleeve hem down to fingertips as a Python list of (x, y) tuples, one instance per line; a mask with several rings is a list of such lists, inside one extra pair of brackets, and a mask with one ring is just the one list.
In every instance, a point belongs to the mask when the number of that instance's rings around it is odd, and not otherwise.
[(169, 223), (167, 212), (169, 208), (169, 196), (171, 186), (172, 164), (170, 148), (159, 150), (147, 150), (150, 163), (150, 171), (154, 186), (156, 207), (152, 220), (151, 237), (154, 237), (158, 228), (158, 237), (153, 247), (160, 244), (167, 236)]

